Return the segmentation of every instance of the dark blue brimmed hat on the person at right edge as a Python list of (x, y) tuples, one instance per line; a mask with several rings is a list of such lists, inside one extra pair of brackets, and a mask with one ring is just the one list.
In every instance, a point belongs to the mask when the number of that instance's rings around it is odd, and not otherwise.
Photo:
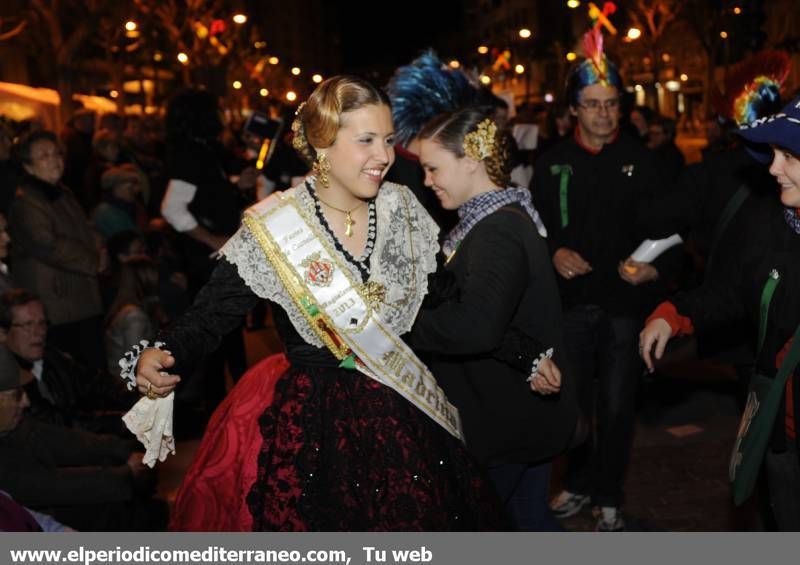
[(740, 126), (736, 133), (747, 141), (753, 156), (764, 163), (772, 159), (771, 145), (800, 155), (800, 96), (777, 114)]

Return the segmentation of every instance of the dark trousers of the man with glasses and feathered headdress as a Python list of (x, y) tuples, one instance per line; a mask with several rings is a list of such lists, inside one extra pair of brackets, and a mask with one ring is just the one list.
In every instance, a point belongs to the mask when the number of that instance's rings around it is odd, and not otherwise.
[(567, 490), (591, 495), (595, 506), (622, 504), (636, 387), (643, 369), (641, 329), (641, 320), (612, 317), (597, 306), (577, 306), (564, 315), (564, 341), (578, 403), (594, 422), (587, 440), (567, 456)]

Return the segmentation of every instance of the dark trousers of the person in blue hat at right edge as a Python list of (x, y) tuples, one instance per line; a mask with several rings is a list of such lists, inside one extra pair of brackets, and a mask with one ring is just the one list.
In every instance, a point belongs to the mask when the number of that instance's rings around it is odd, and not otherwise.
[(781, 453), (767, 449), (766, 469), (769, 503), (778, 530), (800, 532), (800, 460), (792, 440)]

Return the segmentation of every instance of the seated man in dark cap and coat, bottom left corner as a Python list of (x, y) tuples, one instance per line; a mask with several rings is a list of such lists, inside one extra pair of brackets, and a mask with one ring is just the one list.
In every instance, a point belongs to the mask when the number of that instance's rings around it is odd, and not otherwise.
[(150, 498), (156, 476), (134, 441), (28, 417), (20, 373), (0, 347), (0, 489), (78, 530), (163, 528), (164, 505)]

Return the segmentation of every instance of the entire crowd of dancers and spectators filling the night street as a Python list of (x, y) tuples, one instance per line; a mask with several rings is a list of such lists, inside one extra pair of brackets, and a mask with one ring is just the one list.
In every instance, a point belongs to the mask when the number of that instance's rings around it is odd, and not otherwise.
[[(640, 377), (689, 334), (747, 390), (736, 500), (766, 461), (800, 529), (788, 59), (731, 73), (738, 135), (687, 166), (587, 45), (510, 120), (428, 52), (269, 138), (201, 89), (163, 120), (3, 123), (0, 529), (623, 531)], [(248, 368), (265, 305), (283, 350)], [(199, 431), (168, 509), (152, 465)]]

